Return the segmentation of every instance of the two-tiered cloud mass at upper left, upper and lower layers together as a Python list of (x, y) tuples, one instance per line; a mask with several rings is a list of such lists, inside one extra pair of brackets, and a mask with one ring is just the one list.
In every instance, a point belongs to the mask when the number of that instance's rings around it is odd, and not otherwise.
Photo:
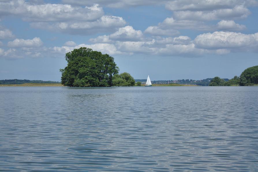
[(124, 27), (122, 17), (104, 15), (102, 7), (44, 3), (44, 1), (0, 1), (0, 16), (17, 16), (36, 29), (47, 29), (74, 35), (111, 32)]

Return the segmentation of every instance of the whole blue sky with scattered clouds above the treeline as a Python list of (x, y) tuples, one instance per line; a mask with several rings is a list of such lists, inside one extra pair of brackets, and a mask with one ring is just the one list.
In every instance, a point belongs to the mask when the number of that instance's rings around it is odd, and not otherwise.
[(0, 0), (0, 80), (61, 81), (87, 47), (135, 79), (233, 78), (258, 65), (258, 0)]

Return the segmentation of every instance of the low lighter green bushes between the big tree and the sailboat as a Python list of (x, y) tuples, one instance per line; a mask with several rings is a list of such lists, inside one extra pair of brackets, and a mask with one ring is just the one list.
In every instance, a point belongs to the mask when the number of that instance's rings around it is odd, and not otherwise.
[(114, 86), (134, 86), (134, 78), (129, 73), (115, 74), (112, 83)]

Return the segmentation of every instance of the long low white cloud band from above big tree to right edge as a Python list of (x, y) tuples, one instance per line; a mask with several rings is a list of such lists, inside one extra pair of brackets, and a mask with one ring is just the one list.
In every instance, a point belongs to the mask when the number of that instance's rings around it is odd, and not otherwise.
[[(148, 40), (149, 38), (144, 38)], [(109, 35), (92, 39), (92, 42), (112, 41)], [(80, 44), (74, 47), (54, 47), (55, 53), (65, 54), (74, 48), (88, 47), (110, 55), (149, 54), (158, 56), (198, 57), (205, 54), (224, 55), (230, 52), (257, 52), (258, 33), (243, 34), (237, 32), (215, 31), (198, 35), (194, 40), (188, 36), (156, 37), (152, 41), (115, 40), (109, 43)]]

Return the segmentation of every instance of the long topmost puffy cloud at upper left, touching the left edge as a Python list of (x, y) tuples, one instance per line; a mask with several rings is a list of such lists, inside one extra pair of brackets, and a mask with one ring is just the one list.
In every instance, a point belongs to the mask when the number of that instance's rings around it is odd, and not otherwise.
[(96, 20), (104, 11), (97, 4), (90, 7), (72, 7), (68, 4), (31, 4), (23, 0), (0, 2), (0, 14), (17, 15), (26, 21)]

